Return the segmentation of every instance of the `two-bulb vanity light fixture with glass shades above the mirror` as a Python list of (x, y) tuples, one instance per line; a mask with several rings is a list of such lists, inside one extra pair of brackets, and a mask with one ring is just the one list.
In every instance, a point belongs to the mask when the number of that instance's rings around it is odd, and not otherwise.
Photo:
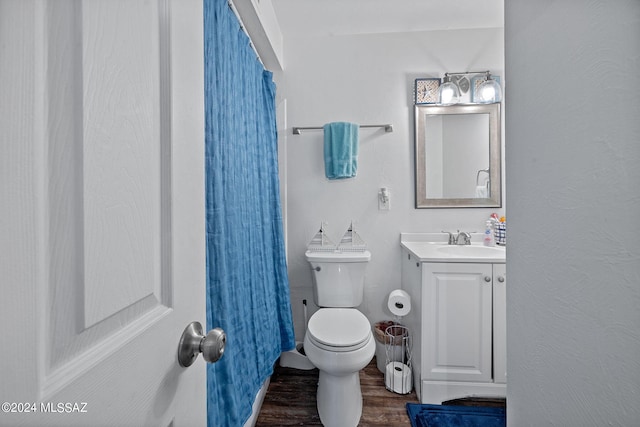
[[(438, 104), (454, 105), (460, 102), (460, 92), (467, 93), (469, 79), (466, 76), (476, 75), (472, 81), (471, 103), (492, 104), (502, 100), (500, 82), (489, 71), (465, 71), (464, 73), (445, 73), (438, 89)], [(453, 78), (452, 78), (453, 76)], [(476, 83), (477, 82), (477, 83)], [(466, 84), (465, 88), (460, 85)]]

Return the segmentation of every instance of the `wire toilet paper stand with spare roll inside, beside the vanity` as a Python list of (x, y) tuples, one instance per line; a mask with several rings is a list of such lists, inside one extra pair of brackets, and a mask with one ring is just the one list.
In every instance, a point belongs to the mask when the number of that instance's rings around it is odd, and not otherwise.
[(386, 369), (384, 384), (387, 390), (398, 394), (411, 393), (413, 378), (411, 372), (411, 335), (402, 325), (389, 326), (385, 334)]

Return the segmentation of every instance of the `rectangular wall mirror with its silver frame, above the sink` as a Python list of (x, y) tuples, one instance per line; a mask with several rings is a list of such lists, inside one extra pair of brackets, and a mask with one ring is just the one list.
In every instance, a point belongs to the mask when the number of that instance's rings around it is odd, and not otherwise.
[(416, 208), (500, 207), (500, 104), (416, 105)]

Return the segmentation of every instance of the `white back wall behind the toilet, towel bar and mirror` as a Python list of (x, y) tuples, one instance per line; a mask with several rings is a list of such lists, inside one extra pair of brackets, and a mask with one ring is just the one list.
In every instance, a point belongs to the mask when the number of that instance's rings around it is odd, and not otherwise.
[[(323, 134), (291, 135), (286, 144), (289, 279), (296, 336), (304, 334), (302, 299), (315, 310), (306, 245), (322, 221), (339, 240), (351, 220), (372, 252), (360, 306), (372, 322), (390, 319), (385, 301), (400, 287), (400, 232), (481, 232), (501, 209), (414, 209), (413, 82), (445, 71), (490, 69), (504, 76), (500, 29), (344, 36), (284, 34), (283, 72), (275, 75), (287, 102), (286, 122), (322, 126), (331, 121), (391, 123), (393, 133), (361, 129), (358, 176), (328, 181)], [(504, 81), (504, 80), (503, 80)], [(379, 211), (380, 187), (391, 191), (391, 210)], [(504, 205), (503, 205), (504, 206)]]

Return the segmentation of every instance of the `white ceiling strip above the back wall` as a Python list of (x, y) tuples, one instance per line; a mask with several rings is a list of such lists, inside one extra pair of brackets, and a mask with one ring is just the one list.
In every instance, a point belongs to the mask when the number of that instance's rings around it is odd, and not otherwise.
[(285, 39), (504, 27), (505, 0), (271, 1)]

